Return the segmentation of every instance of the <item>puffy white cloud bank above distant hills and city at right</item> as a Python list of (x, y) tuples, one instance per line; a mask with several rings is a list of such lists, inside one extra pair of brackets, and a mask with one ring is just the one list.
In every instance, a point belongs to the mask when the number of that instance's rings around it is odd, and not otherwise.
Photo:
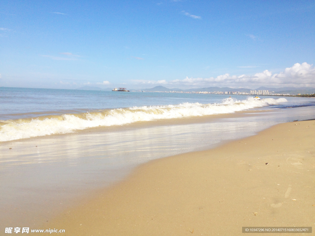
[(135, 85), (163, 85), (176, 86), (181, 88), (197, 87), (315, 87), (315, 68), (306, 62), (296, 63), (292, 67), (286, 68), (280, 73), (272, 74), (272, 71), (264, 70), (253, 76), (249, 75), (230, 75), (226, 73), (217, 77), (209, 78), (189, 78), (166, 80), (132, 80)]

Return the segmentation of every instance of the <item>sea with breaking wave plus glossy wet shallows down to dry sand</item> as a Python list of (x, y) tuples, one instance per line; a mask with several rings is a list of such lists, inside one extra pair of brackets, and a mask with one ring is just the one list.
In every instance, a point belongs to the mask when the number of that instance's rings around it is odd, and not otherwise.
[(40, 225), (147, 161), (315, 118), (314, 98), (260, 98), (0, 87), (0, 228)]

